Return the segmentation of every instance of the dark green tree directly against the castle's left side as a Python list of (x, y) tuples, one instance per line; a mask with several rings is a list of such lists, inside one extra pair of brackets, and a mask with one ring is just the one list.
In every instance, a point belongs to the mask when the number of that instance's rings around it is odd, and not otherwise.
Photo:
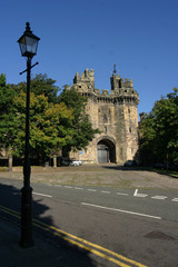
[(88, 99), (76, 89), (65, 89), (59, 96), (59, 102), (63, 102), (68, 108), (72, 108), (72, 139), (63, 147), (63, 156), (67, 156), (71, 149), (85, 149), (96, 134), (100, 134), (98, 129), (92, 128), (89, 115), (86, 113)]

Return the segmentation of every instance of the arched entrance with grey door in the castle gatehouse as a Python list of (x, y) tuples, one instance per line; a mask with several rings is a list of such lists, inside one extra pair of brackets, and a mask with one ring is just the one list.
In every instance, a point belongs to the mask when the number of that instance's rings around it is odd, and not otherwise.
[(116, 162), (116, 146), (111, 140), (102, 139), (97, 144), (98, 164)]

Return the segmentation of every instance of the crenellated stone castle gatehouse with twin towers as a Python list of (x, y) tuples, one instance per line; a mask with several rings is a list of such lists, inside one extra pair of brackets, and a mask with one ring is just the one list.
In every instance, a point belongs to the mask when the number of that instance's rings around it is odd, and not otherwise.
[(110, 78), (111, 92), (95, 88), (95, 71), (86, 69), (75, 76), (73, 88), (88, 98), (86, 112), (93, 128), (99, 128), (87, 150), (70, 155), (83, 164), (125, 164), (136, 159), (138, 151), (138, 92), (132, 80), (113, 73)]

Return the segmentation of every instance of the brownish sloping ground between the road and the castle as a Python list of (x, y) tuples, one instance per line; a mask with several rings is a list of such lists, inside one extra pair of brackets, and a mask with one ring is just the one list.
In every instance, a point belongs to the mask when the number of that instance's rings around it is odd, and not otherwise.
[[(7, 171), (0, 167), (0, 177), (22, 179), (22, 167)], [(161, 176), (157, 175), (161, 174)], [(178, 171), (152, 168), (122, 168), (116, 165), (44, 168), (32, 167), (31, 182), (50, 185), (96, 186), (116, 188), (178, 188)]]

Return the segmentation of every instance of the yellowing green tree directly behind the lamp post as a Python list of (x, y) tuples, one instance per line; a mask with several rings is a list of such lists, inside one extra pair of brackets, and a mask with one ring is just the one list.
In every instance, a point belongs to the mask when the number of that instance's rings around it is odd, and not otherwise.
[[(14, 98), (19, 121), (18, 134), (14, 139), (13, 155), (23, 156), (26, 93), (21, 91)], [(43, 95), (30, 97), (30, 157), (41, 165), (52, 152), (57, 152), (71, 141), (72, 110), (65, 103), (52, 103)]]

